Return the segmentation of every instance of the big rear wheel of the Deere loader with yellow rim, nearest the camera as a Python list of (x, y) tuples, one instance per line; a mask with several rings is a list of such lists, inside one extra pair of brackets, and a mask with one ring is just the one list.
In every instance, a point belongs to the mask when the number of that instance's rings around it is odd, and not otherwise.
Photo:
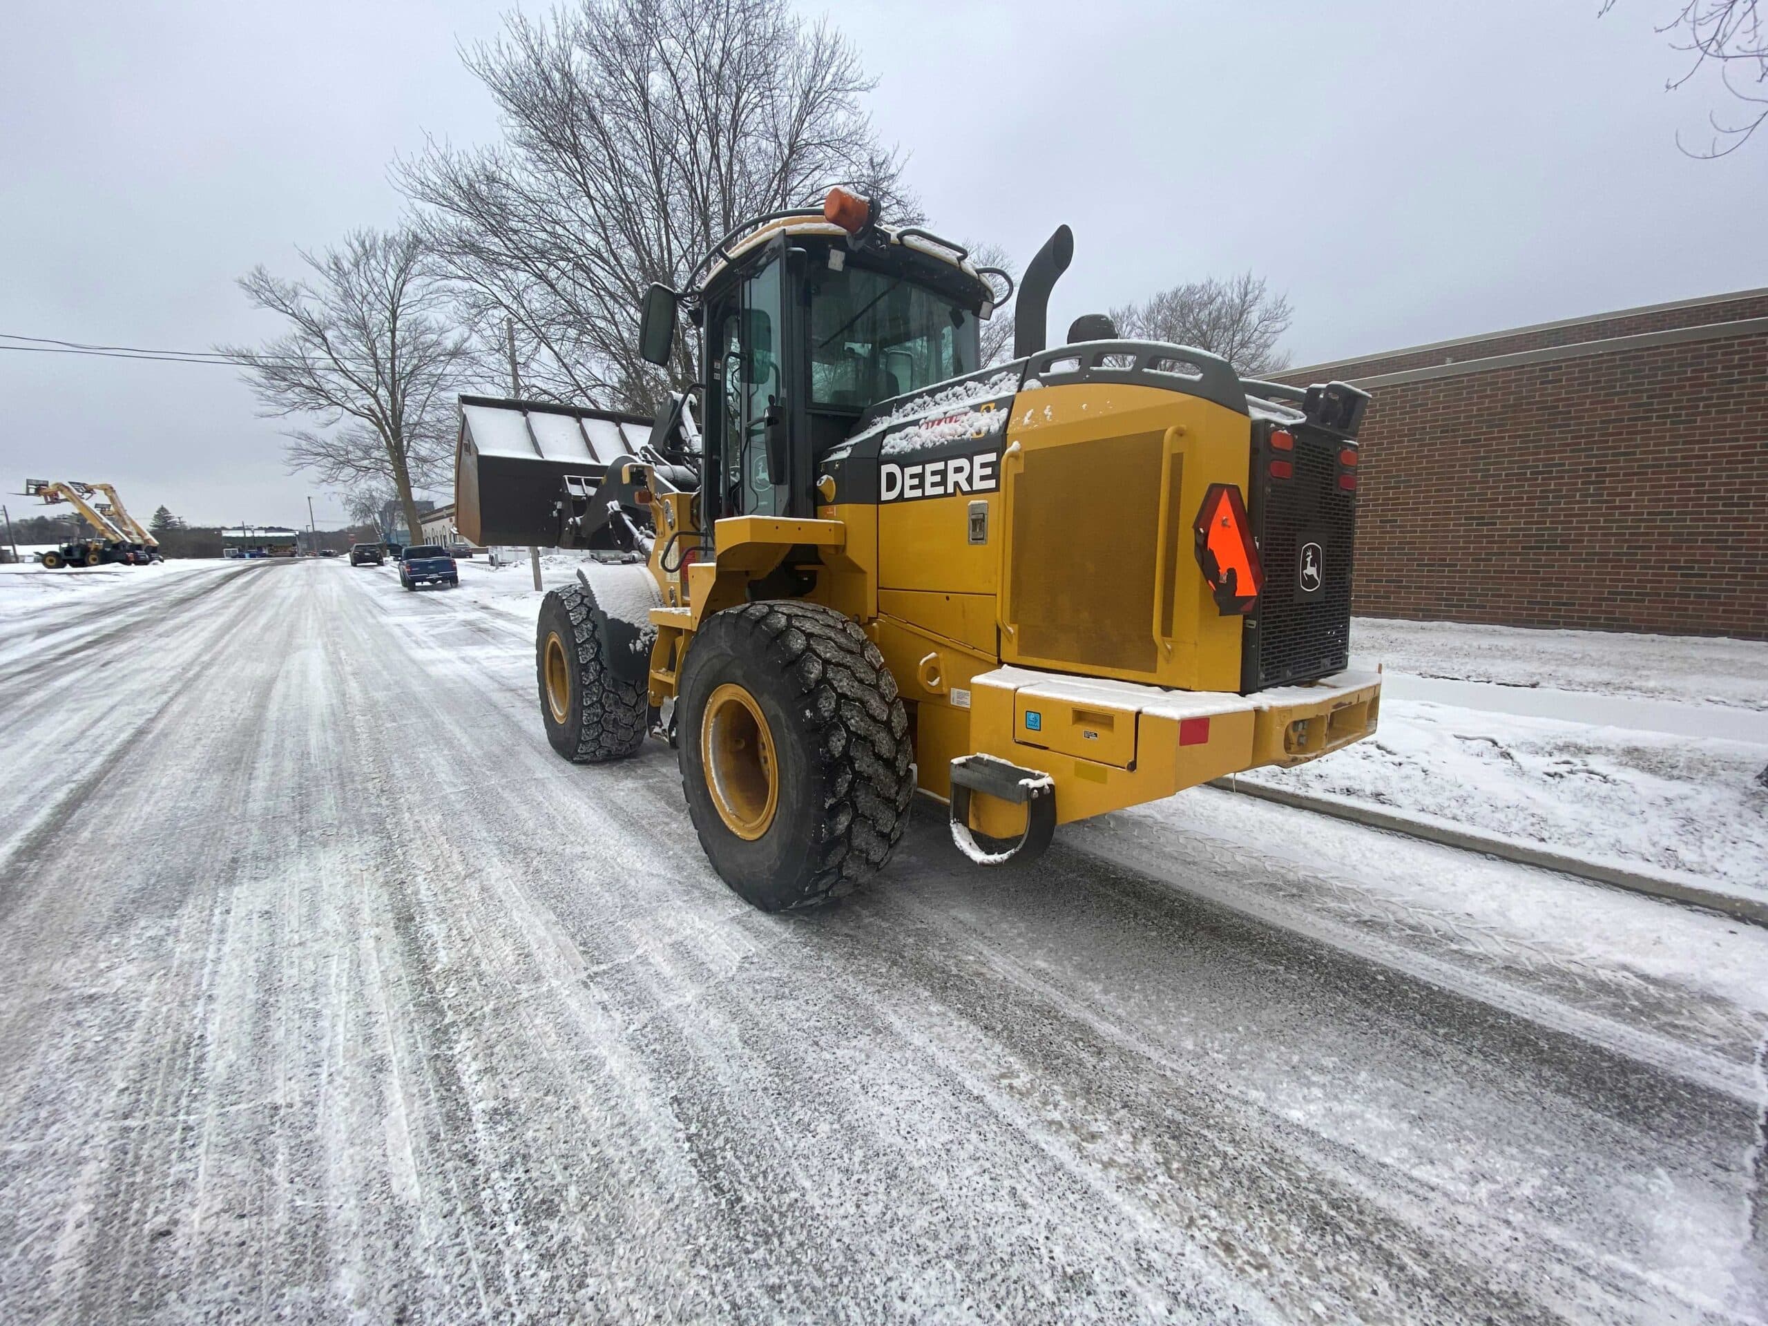
[(762, 911), (849, 893), (884, 868), (909, 822), (914, 753), (896, 679), (865, 631), (815, 603), (705, 621), (681, 675), (679, 758), (713, 870)]

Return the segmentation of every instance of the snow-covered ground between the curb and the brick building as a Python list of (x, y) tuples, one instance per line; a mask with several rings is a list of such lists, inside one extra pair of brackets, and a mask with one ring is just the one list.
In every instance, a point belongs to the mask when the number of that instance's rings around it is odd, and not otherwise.
[(1376, 735), (1243, 778), (1768, 896), (1768, 645), (1358, 619), (1353, 654)]

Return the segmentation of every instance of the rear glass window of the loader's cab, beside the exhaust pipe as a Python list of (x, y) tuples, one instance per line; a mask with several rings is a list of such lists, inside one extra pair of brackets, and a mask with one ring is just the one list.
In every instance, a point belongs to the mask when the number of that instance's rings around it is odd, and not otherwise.
[(944, 295), (852, 263), (812, 290), (812, 405), (865, 408), (978, 368), (976, 315)]

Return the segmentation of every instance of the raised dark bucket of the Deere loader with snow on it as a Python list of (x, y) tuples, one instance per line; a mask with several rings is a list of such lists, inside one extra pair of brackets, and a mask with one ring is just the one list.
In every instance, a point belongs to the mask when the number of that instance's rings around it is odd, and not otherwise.
[(557, 548), (568, 492), (594, 492), (608, 461), (649, 440), (640, 414), (461, 396), (454, 527), (481, 548)]

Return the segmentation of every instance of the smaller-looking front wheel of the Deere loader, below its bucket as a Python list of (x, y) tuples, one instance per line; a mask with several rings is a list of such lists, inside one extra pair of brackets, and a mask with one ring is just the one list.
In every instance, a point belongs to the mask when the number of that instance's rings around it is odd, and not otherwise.
[[(651, 580), (649, 571), (638, 569)], [(573, 764), (636, 755), (651, 727), (645, 686), (621, 679), (608, 667), (610, 644), (594, 608), (596, 598), (583, 585), (555, 589), (541, 603), (534, 631), (546, 741)]]

